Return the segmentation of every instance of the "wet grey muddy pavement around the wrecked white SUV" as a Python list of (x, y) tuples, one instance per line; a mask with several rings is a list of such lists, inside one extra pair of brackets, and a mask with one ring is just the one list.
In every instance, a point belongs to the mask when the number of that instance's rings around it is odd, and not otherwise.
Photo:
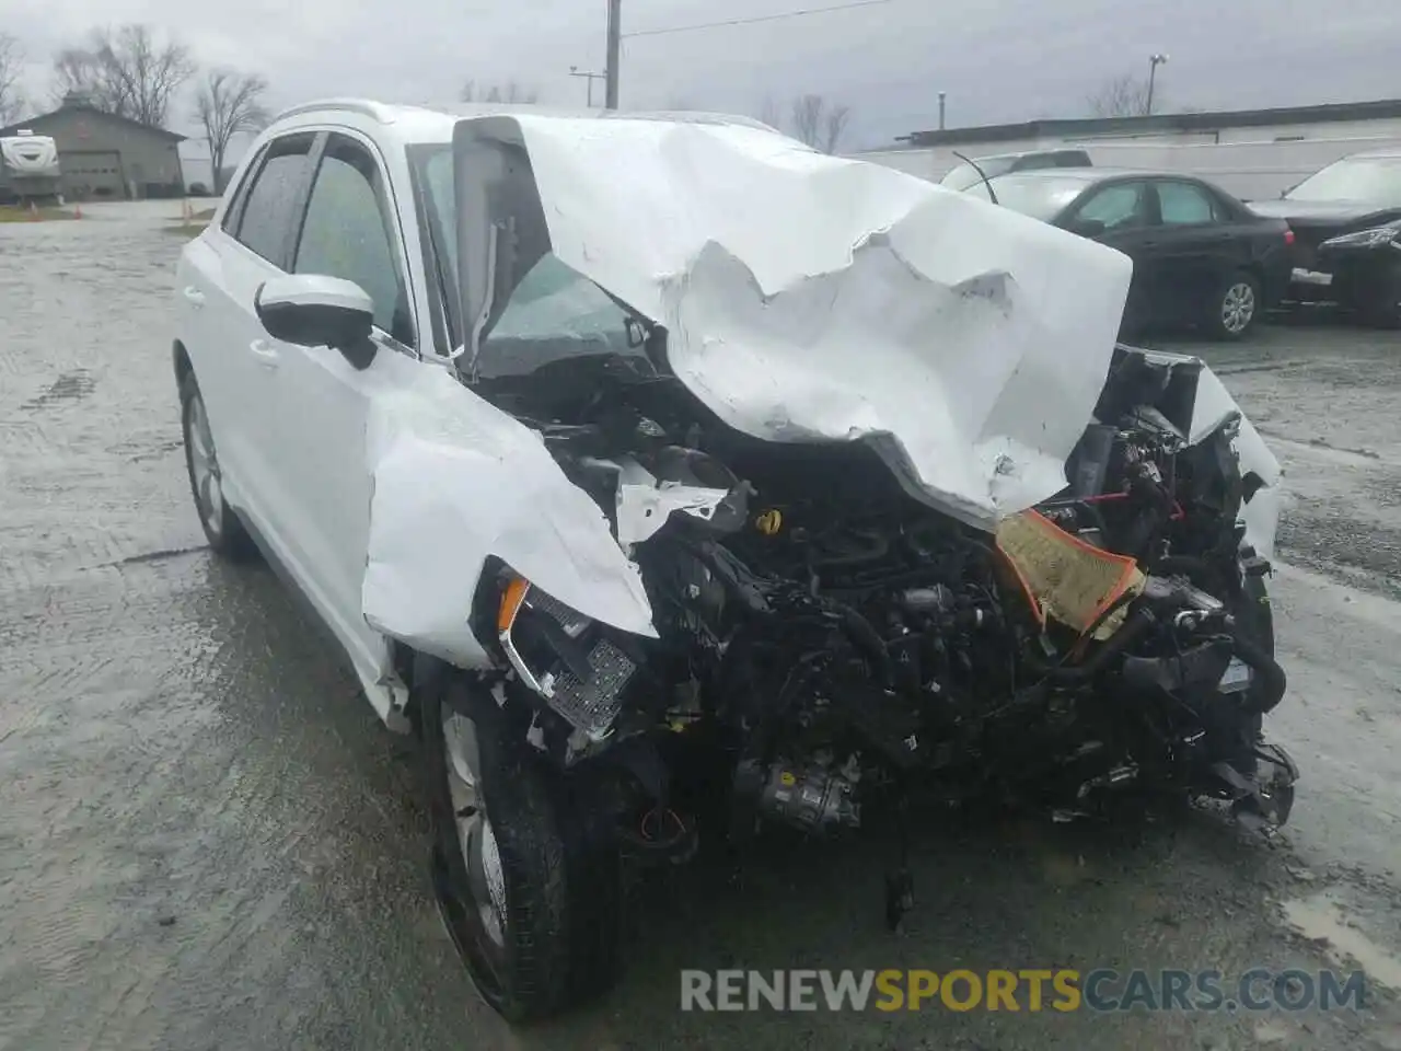
[(640, 893), (616, 992), (513, 1033), (432, 904), (412, 744), (269, 570), (203, 549), (163, 216), (0, 228), (0, 1051), (1401, 1048), (1380, 984), (1327, 1015), (677, 1009), (682, 967), (1356, 960), (1401, 985), (1401, 335), (1295, 322), (1189, 348), (1295, 493), (1272, 722), (1304, 779), (1279, 838), (1209, 813), (930, 830), (899, 937), (859, 845), (773, 849), (743, 888), (686, 870)]

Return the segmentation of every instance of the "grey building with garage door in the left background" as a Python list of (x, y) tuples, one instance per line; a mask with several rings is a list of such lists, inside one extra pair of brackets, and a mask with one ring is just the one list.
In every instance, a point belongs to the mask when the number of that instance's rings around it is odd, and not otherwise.
[(59, 147), (63, 195), (69, 200), (175, 198), (185, 193), (179, 144), (185, 136), (94, 109), (69, 95), (52, 114), (0, 129), (28, 128)]

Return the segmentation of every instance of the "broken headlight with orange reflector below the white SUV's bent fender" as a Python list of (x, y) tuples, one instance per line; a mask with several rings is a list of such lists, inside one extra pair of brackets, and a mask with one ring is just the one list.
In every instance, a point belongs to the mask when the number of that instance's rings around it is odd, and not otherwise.
[(612, 733), (637, 664), (604, 625), (513, 576), (502, 591), (496, 635), (521, 682), (551, 710), (593, 743)]

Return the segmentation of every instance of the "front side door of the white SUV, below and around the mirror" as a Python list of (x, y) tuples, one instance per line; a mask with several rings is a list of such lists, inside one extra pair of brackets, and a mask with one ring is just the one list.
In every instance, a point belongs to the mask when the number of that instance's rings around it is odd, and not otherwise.
[[(272, 405), (277, 455), (276, 517), (286, 523), (303, 584), (356, 663), (377, 708), (387, 696), (371, 684), (389, 675), (388, 646), (361, 612), (370, 530), (370, 406), (422, 369), (420, 334), (405, 265), (402, 233), (377, 149), (353, 132), (331, 132), (312, 157), (312, 182), (290, 272), (352, 280), (374, 301), (367, 369), (329, 346), (294, 346), (262, 338), (276, 359)], [(401, 196), (408, 200), (406, 188)]]

